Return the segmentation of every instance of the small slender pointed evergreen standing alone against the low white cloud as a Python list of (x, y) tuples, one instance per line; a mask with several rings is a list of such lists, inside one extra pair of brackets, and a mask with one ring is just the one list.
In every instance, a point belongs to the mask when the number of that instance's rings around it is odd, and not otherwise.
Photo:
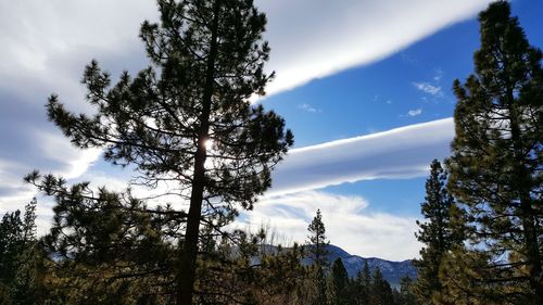
[(310, 258), (314, 265), (313, 278), (315, 283), (315, 305), (324, 305), (327, 303), (326, 294), (326, 276), (325, 270), (329, 265), (327, 246), (330, 241), (326, 239), (326, 228), (323, 223), (320, 209), (317, 209), (317, 215), (313, 218), (310, 226), (308, 250)]

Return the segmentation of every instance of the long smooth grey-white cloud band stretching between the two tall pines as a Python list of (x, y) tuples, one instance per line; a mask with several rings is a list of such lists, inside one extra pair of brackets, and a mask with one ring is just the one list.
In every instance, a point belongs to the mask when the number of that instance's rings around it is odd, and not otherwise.
[(273, 174), (268, 194), (294, 193), (371, 179), (425, 177), (450, 154), (452, 118), (291, 150)]

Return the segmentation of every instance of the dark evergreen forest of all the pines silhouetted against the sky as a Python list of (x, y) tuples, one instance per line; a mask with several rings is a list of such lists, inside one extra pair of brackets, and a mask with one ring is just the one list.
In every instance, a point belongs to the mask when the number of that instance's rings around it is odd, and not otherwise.
[(93, 60), (81, 84), (94, 114), (56, 94), (46, 111), (75, 147), (136, 168), (136, 183), (175, 185), (186, 208), (29, 169), (54, 216), (38, 236), (37, 199), (3, 215), (0, 305), (543, 304), (543, 53), (507, 1), (479, 13), (473, 72), (453, 84), (451, 155), (429, 164), (417, 277), (397, 287), (367, 262), (349, 276), (331, 260), (320, 211), (300, 243), (229, 226), (294, 143), (279, 114), (252, 102), (274, 78), (266, 15), (252, 0), (157, 9), (139, 34), (149, 67), (112, 80)]

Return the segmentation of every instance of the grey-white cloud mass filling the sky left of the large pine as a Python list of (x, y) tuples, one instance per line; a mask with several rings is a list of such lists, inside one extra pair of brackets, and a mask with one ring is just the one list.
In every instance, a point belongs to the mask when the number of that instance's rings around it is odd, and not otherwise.
[(79, 79), (92, 58), (113, 73), (143, 67), (139, 25), (154, 16), (148, 0), (0, 1), (0, 164), (10, 165), (0, 175), (1, 211), (36, 194), (22, 181), (34, 168), (76, 178), (99, 157), (72, 147), (43, 104), (56, 92), (70, 110), (88, 111)]

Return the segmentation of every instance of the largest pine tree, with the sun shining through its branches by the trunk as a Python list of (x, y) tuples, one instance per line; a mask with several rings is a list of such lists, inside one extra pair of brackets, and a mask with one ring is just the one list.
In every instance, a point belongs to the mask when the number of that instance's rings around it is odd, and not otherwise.
[[(140, 31), (150, 67), (134, 78), (125, 72), (111, 86), (92, 61), (83, 82), (97, 113), (73, 114), (56, 96), (47, 110), (75, 145), (102, 148), (106, 161), (136, 166), (140, 183), (177, 185), (173, 193), (188, 211), (141, 212), (178, 221), (169, 231), (178, 241), (176, 298), (192, 304), (201, 223), (219, 230), (238, 208), (252, 208), (293, 137), (281, 117), (249, 102), (270, 79), (263, 72), (266, 18), (252, 0), (157, 2), (160, 22), (144, 22)], [(78, 196), (65, 192), (62, 178), (33, 173), (27, 180), (59, 204), (89, 195), (84, 185)]]

